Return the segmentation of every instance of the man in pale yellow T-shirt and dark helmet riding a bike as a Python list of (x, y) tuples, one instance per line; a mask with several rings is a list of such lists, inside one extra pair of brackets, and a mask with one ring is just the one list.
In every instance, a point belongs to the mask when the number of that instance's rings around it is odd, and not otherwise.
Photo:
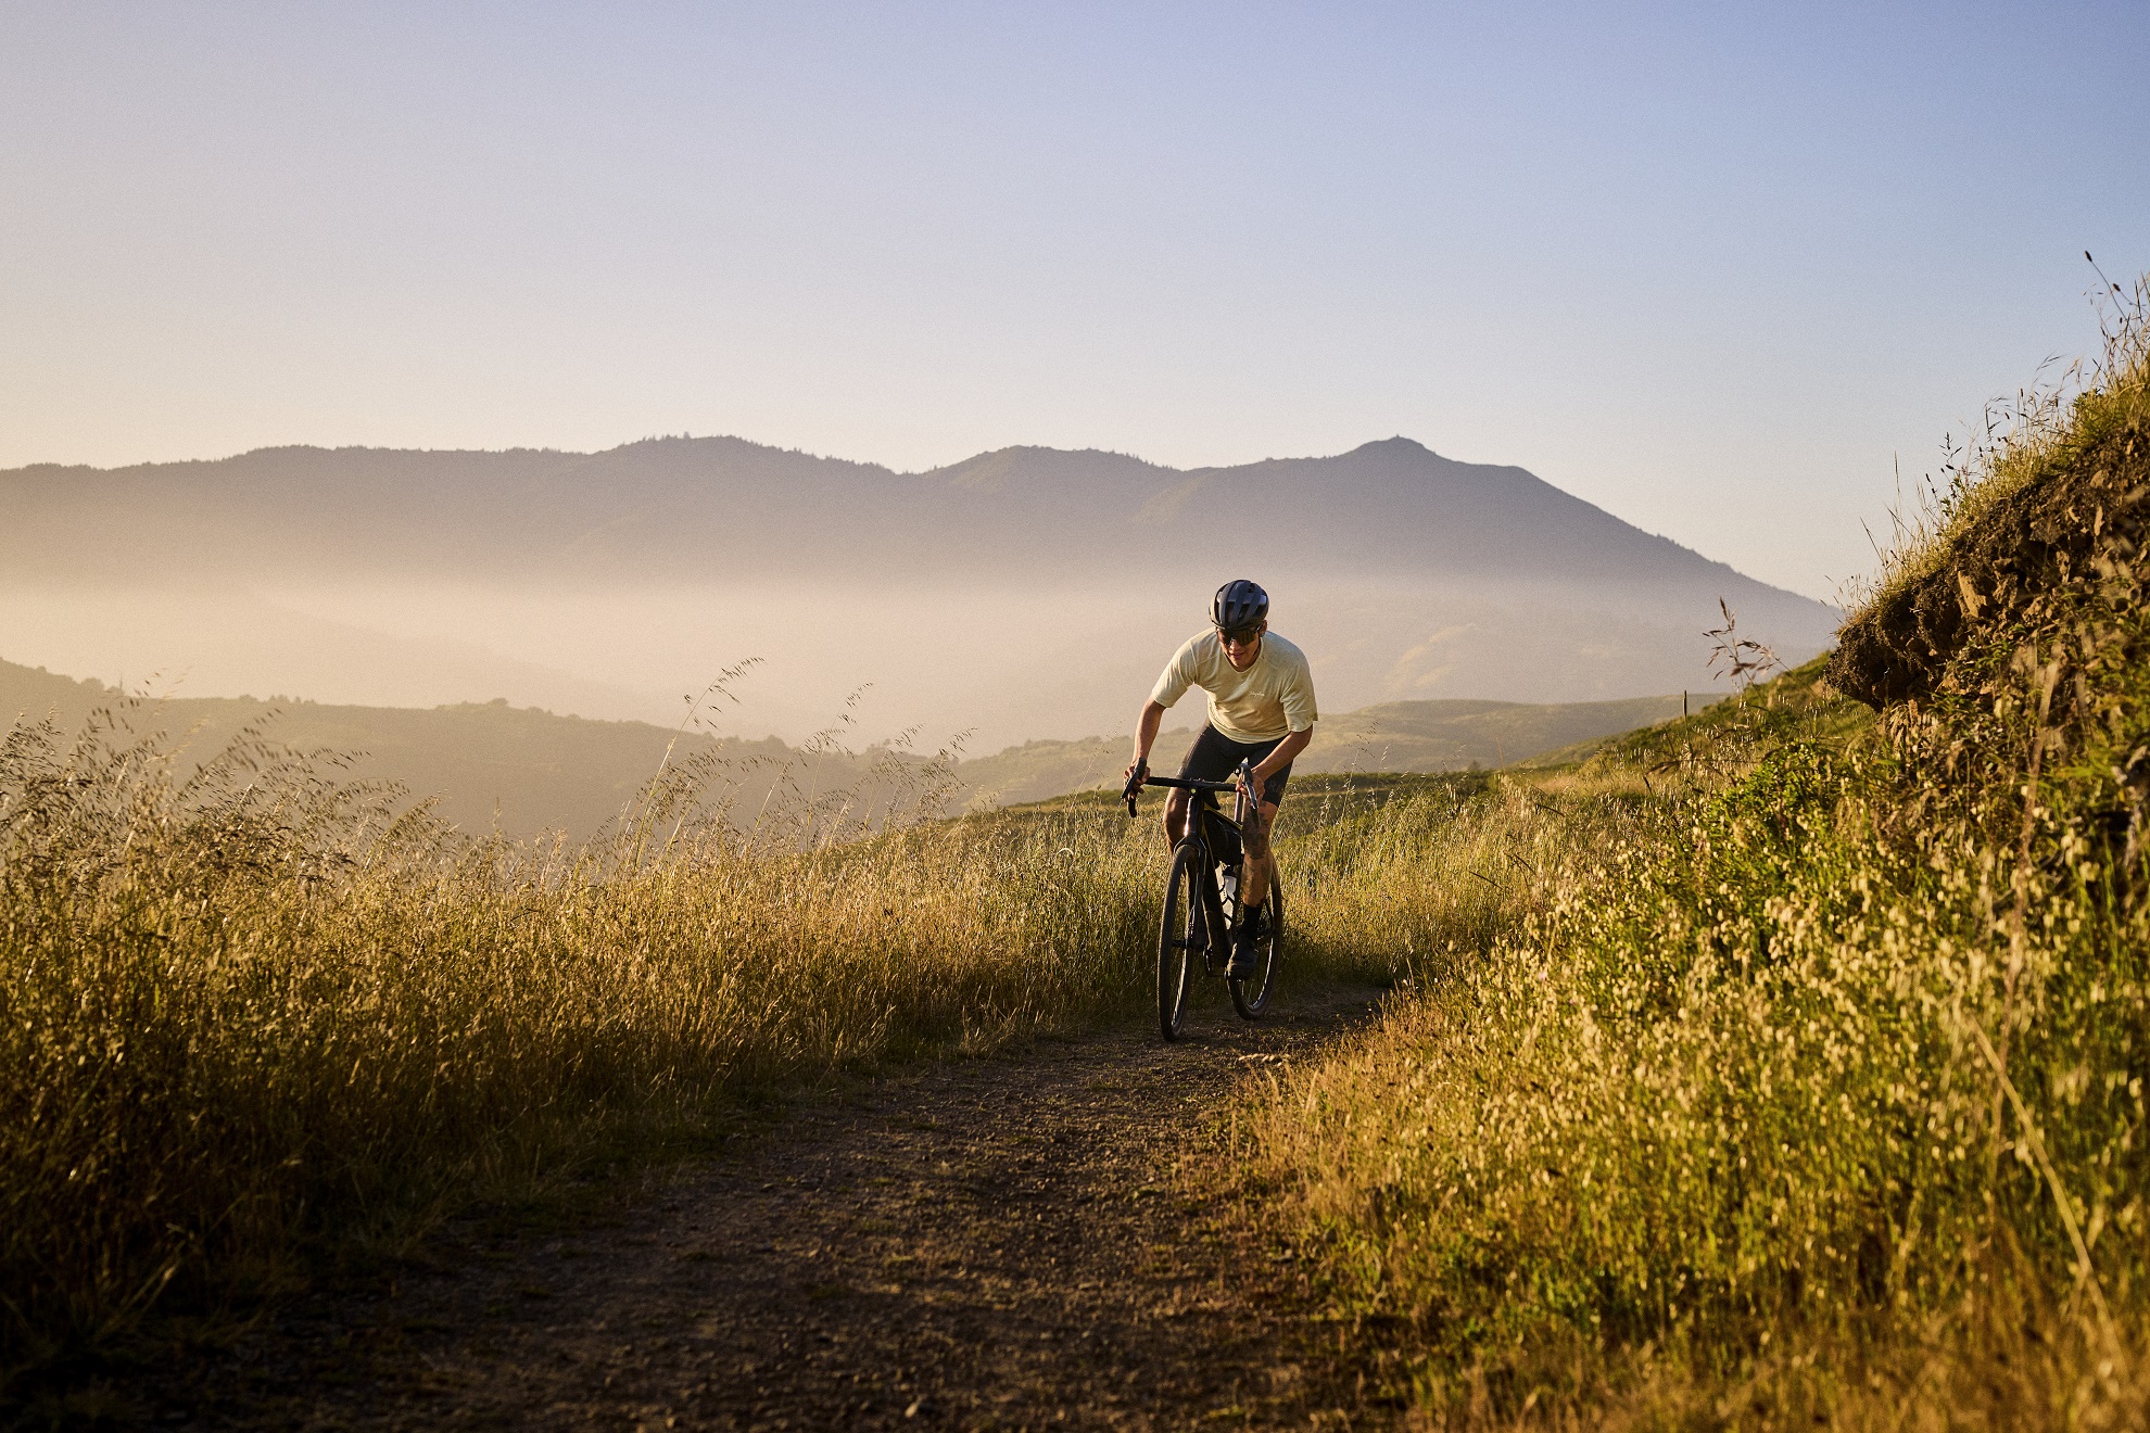
[[(1268, 629), (1268, 593), (1245, 578), (1226, 582), (1210, 599), (1210, 629), (1187, 638), (1172, 653), (1157, 690), (1142, 705), (1142, 715), (1135, 720), (1135, 761), (1127, 765), (1129, 782), (1148, 776), (1157, 728), (1165, 720), (1165, 709), (1180, 700), (1187, 687), (1202, 687), (1208, 696), (1208, 724), (1180, 763), (1180, 776), (1221, 782), (1243, 758), (1251, 756), (1256, 763), (1260, 804), (1247, 831), (1238, 877), (1241, 909), (1256, 915), (1241, 922), (1232, 965), (1226, 971), (1232, 980), (1245, 980), (1253, 975), (1256, 950), (1268, 935), (1262, 928), (1268, 920), (1262, 902), (1268, 900), (1268, 881), (1275, 874), (1268, 829), (1277, 821), (1292, 758), (1314, 739), (1314, 675), (1307, 670), (1305, 653)], [(1167, 844), (1178, 840), (1185, 821), (1187, 793), (1174, 791), (1165, 801)]]

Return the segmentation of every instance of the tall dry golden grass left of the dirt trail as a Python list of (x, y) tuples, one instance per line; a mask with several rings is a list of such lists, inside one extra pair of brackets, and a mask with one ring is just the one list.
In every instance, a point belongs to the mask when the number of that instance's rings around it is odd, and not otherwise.
[(604, 840), (514, 844), (256, 735), (178, 780), (148, 715), (0, 743), (9, 1375), (1152, 984), (1165, 851), (1105, 801), (922, 821), (899, 771), (742, 831), (669, 769)]

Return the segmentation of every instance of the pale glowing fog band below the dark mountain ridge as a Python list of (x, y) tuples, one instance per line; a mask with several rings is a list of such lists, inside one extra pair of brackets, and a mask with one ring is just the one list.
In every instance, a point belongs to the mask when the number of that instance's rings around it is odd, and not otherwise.
[[(716, 730), (860, 741), (920, 728), (972, 752), (1129, 726), (1208, 589), (30, 589), (0, 599), (0, 653), (183, 696), (518, 707), (677, 722), (722, 668), (759, 664)], [(1591, 593), (1531, 599), (1385, 584), (1279, 584), (1275, 629), (1322, 705), (1492, 696), (1572, 703), (1707, 690), (1716, 608), (1612, 621)], [(1681, 621), (1686, 619), (1686, 621)], [(1806, 655), (1793, 649), (1789, 655)], [(1716, 683), (1722, 685), (1722, 683)], [(858, 694), (854, 703), (851, 696)], [(1189, 705), (1187, 720), (1198, 720)]]

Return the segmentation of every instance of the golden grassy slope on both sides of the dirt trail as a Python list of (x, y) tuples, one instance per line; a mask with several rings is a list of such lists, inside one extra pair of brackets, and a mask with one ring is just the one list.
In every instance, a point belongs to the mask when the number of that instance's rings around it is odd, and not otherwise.
[[(1428, 1422), (2144, 1424), (2144, 329), (2034, 419), (1828, 681), (1559, 765), (1309, 773), (1294, 969), (1406, 988), (1258, 1076), (1219, 1179)], [(335, 776), (0, 746), (17, 1386), (757, 1089), (1142, 995), (1163, 851), (1094, 793), (802, 849), (858, 825), (697, 821), (694, 754), (578, 846)]]

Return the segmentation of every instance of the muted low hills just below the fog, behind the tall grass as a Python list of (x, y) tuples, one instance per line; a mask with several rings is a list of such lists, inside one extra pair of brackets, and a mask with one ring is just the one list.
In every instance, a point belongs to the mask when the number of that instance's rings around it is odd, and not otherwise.
[[(1299, 771), (1458, 771), (1572, 750), (1679, 715), (1686, 696), (1531, 707), (1417, 700), (1331, 711)], [(712, 737), (649, 722), (593, 722), (505, 700), (443, 707), (357, 707), (310, 700), (125, 698), (97, 683), (0, 660), (0, 711), (49, 720), (49, 741), (80, 737), (168, 752), (172, 776), (234, 758), (256, 771), (280, 754), (329, 756), (316, 771), (357, 780), (391, 806), (424, 801), (464, 831), (602, 836), (658, 799), (671, 819), (720, 816), (763, 840), (869, 829), (907, 814), (955, 814), (1118, 784), (1127, 737), (1023, 741), (989, 756), (869, 748), (802, 752), (772, 739)], [(101, 715), (99, 715), (101, 713)], [(39, 737), (32, 737), (32, 741)], [(1159, 765), (1193, 741), (1170, 726)], [(236, 750), (234, 750), (236, 746)], [(662, 780), (660, 780), (662, 773)], [(249, 780), (249, 778), (247, 778)], [(658, 782), (654, 788), (651, 782)]]

